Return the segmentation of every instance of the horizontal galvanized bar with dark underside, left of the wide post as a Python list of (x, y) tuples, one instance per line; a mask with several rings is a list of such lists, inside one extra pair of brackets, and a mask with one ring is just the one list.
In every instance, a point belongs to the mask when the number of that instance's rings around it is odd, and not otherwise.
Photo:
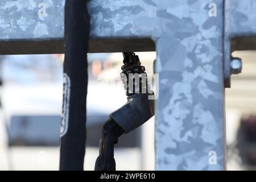
[[(64, 4), (65, 0), (1, 1), (0, 55), (63, 53)], [(155, 50), (155, 2), (93, 0), (88, 6), (89, 52)]]

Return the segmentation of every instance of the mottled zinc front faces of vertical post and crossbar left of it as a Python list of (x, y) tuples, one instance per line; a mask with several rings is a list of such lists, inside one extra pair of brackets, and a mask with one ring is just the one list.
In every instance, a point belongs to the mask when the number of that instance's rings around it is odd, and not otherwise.
[[(47, 4), (38, 16), (38, 3)], [(217, 16), (209, 17), (209, 3)], [(95, 38), (151, 37), (158, 52), (156, 169), (225, 169), (222, 0), (93, 0)], [(0, 39), (63, 37), (64, 1), (0, 2)], [(216, 163), (214, 163), (216, 158)], [(213, 159), (213, 160), (211, 160)]]

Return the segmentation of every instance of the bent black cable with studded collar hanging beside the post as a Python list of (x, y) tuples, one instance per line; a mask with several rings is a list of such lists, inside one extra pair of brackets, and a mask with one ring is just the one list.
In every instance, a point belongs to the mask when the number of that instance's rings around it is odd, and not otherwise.
[(154, 92), (150, 90), (145, 68), (133, 52), (123, 53), (121, 78), (125, 86), (127, 103), (114, 113), (101, 131), (100, 155), (96, 159), (96, 171), (115, 170), (114, 144), (123, 133), (137, 129), (154, 113)]

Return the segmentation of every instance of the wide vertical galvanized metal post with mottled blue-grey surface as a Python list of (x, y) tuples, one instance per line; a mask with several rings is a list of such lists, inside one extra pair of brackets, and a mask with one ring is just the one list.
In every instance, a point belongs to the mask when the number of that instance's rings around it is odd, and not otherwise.
[(224, 170), (224, 1), (158, 1), (158, 170)]

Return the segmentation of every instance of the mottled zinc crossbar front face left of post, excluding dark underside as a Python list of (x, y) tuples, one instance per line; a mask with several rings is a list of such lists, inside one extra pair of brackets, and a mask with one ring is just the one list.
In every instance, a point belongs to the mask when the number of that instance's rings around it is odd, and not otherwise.
[[(0, 40), (63, 38), (64, 5), (65, 0), (1, 0)], [(155, 9), (151, 0), (90, 1), (91, 36), (150, 37)]]

